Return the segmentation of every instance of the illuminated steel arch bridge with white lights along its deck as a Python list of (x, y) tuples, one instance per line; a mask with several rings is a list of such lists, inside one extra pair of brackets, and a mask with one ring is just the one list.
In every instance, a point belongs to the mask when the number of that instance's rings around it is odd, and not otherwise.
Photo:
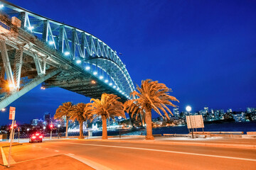
[(134, 84), (125, 64), (99, 38), (4, 0), (0, 14), (0, 109), (39, 84), (90, 98), (130, 98)]

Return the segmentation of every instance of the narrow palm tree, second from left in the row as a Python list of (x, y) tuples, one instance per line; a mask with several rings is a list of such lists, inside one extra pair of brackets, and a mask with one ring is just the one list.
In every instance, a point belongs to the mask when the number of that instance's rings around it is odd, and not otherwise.
[(80, 135), (79, 139), (84, 139), (83, 136), (83, 122), (87, 120), (87, 116), (84, 117), (84, 110), (86, 108), (85, 103), (78, 103), (77, 105), (73, 106), (72, 110), (70, 111), (70, 120), (73, 122), (75, 120), (78, 120), (79, 123), (79, 129), (80, 129)]

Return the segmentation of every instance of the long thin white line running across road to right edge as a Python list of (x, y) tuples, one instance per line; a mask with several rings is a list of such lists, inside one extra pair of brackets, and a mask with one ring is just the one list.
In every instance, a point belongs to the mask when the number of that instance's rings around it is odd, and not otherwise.
[(73, 142), (59, 142), (59, 143), (68, 143), (68, 144), (73, 144), (73, 145), (89, 145), (89, 146), (96, 146), (96, 147), (117, 147), (117, 148), (147, 150), (147, 151), (155, 151), (155, 152), (169, 152), (169, 153), (175, 153), (175, 154), (191, 154), (191, 155), (203, 156), (203, 157), (217, 157), (217, 158), (238, 159), (238, 160), (242, 160), (242, 161), (256, 162), (256, 159), (240, 158), (240, 157), (226, 157), (226, 156), (219, 156), (219, 155), (213, 155), (213, 154), (196, 154), (196, 153), (190, 153), (190, 152), (178, 152), (178, 151), (169, 151), (169, 150), (160, 150), (160, 149), (148, 149), (148, 148), (139, 148), (139, 147), (119, 147), (119, 146), (111, 146), (111, 145), (81, 144), (81, 143), (73, 143)]

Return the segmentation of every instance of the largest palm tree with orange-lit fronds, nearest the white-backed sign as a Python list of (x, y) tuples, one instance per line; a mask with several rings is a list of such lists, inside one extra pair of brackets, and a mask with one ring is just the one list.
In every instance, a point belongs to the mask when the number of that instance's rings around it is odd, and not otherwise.
[[(178, 100), (174, 96), (169, 96), (171, 89), (166, 87), (165, 84), (160, 84), (158, 81), (152, 81), (151, 79), (142, 80), (142, 86), (137, 86), (137, 90), (139, 92), (133, 91), (131, 93), (134, 99), (124, 103), (124, 110), (127, 113), (132, 112), (132, 115), (142, 115), (146, 120), (146, 140), (154, 140), (152, 135), (151, 110), (154, 109), (156, 113), (164, 118), (159, 111), (160, 109), (164, 112), (166, 118), (170, 119), (168, 113), (171, 113), (171, 111), (166, 105), (177, 107), (171, 101)], [(173, 114), (171, 113), (171, 115)]]

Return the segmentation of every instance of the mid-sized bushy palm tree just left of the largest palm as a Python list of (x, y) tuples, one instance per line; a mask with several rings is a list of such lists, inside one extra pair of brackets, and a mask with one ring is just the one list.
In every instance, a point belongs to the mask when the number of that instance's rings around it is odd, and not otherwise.
[(102, 140), (107, 140), (107, 119), (115, 116), (125, 117), (123, 103), (114, 94), (102, 94), (101, 99), (92, 98), (93, 103), (87, 103), (85, 113), (91, 116), (91, 121), (98, 116), (102, 118)]

